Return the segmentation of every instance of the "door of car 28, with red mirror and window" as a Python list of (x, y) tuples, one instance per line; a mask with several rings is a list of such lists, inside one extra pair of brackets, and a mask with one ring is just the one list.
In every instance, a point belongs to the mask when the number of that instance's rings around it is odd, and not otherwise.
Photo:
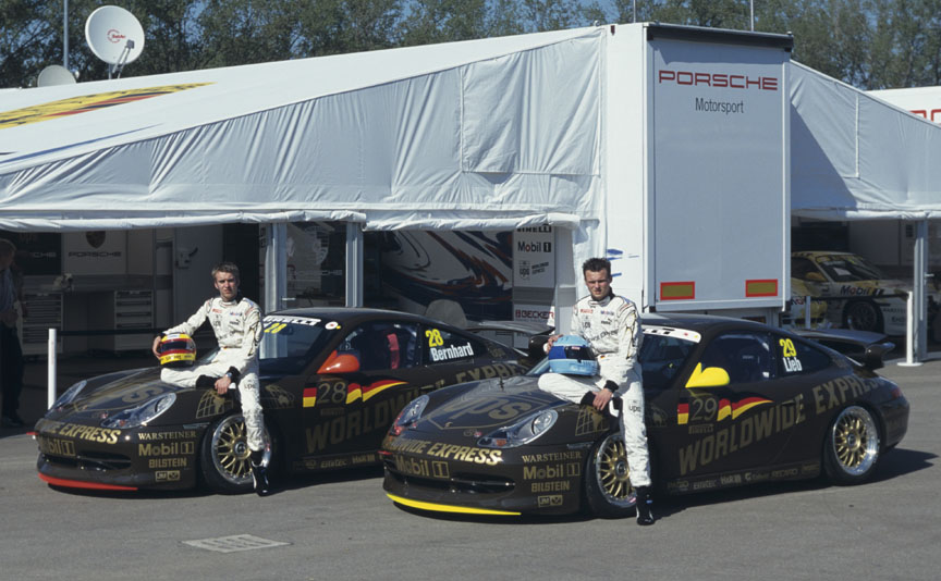
[(375, 460), (395, 416), (428, 381), (418, 333), (415, 322), (369, 321), (331, 353), (305, 390), (306, 468)]

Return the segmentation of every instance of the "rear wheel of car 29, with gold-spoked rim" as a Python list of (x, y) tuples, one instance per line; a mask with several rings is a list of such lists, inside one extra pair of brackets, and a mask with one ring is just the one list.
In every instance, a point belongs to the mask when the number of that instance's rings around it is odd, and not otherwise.
[(860, 406), (844, 408), (823, 440), (823, 470), (834, 484), (869, 480), (879, 462), (879, 427)]

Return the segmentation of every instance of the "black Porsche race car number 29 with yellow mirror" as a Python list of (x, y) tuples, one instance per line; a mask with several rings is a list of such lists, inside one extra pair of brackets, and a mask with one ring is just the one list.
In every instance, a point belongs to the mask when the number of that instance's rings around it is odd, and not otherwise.
[[(707, 316), (644, 318), (646, 424), (655, 485), (671, 494), (872, 477), (905, 435), (908, 403), (865, 363), (795, 334)], [(384, 489), (418, 509), (599, 516), (633, 512), (618, 424), (541, 392), (546, 361), (406, 406), (382, 444)]]

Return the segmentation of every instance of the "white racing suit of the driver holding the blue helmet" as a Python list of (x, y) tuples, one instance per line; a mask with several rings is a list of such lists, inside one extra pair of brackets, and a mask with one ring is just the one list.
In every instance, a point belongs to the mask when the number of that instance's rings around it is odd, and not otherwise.
[[(624, 297), (610, 295), (602, 300), (587, 296), (572, 311), (572, 334), (591, 345), (598, 359), (599, 376), (546, 373), (539, 387), (555, 396), (579, 403), (586, 391), (597, 392), (608, 381), (618, 384), (621, 397), (621, 432), (627, 452), (631, 484), (650, 485), (650, 456), (644, 425), (644, 386), (637, 354), (644, 338), (637, 307)], [(545, 379), (543, 379), (545, 378)]]

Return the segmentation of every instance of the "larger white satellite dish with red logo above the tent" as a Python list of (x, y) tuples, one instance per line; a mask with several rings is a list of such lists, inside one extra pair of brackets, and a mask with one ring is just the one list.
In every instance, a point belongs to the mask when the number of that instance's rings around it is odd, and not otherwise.
[(91, 52), (108, 63), (108, 78), (121, 77), (124, 65), (144, 52), (144, 28), (126, 10), (101, 7), (85, 21), (85, 40)]

